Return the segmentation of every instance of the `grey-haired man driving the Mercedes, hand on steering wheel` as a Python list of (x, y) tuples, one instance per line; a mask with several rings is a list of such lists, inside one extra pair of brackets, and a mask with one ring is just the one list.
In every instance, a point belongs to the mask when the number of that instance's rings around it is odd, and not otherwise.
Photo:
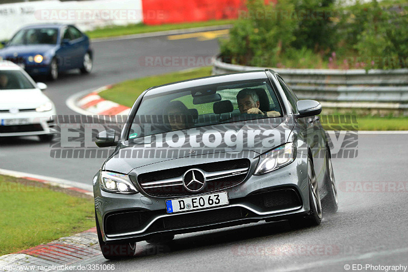
[(267, 117), (276, 117), (281, 114), (277, 111), (261, 111), (259, 109), (259, 96), (255, 90), (245, 88), (238, 92), (237, 94), (238, 109), (243, 113), (247, 114), (261, 114)]

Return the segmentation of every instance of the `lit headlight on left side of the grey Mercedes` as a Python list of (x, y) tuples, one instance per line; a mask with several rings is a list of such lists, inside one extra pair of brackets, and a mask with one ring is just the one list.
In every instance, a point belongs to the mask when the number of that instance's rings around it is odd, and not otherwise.
[(100, 172), (100, 188), (111, 193), (137, 193), (128, 175), (116, 174), (107, 171)]

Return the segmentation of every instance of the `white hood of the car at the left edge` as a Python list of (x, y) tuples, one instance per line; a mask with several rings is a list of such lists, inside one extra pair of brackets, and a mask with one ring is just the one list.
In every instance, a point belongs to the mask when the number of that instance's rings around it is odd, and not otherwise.
[(0, 90), (0, 110), (35, 109), (49, 101), (39, 89)]

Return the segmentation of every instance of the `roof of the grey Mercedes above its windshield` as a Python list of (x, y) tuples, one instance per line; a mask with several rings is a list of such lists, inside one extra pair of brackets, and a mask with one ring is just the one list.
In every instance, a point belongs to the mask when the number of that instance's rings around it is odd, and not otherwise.
[(226, 82), (234, 81), (245, 81), (245, 80), (267, 80), (265, 70), (252, 70), (245, 72), (235, 72), (235, 73), (226, 73), (222, 75), (208, 76), (196, 79), (189, 79), (184, 81), (178, 81), (173, 83), (168, 83), (160, 86), (151, 87), (148, 89), (148, 95), (155, 95), (163, 92), (181, 90), (185, 88), (194, 88), (200, 87), (203, 85), (210, 84), (222, 84)]

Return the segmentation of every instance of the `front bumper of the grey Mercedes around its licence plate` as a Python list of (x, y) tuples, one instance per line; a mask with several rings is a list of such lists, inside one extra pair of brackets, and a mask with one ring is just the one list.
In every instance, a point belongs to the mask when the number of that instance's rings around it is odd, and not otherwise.
[[(167, 214), (165, 205), (166, 200), (176, 197), (152, 197), (143, 191), (131, 195), (105, 192), (100, 190), (95, 176), (95, 210), (103, 239), (105, 242), (142, 241), (163, 233), (189, 233), (305, 214), (310, 210), (309, 186), (307, 160), (302, 157), (298, 156), (288, 166), (262, 176), (252, 175), (257, 165), (252, 160), (249, 173), (242, 183), (219, 190), (228, 192), (229, 205), (176, 214)], [(272, 200), (279, 195), (295, 195), (293, 197), (297, 201), (290, 205), (269, 207), (257, 203), (257, 199), (268, 194), (274, 195), (270, 197)], [(113, 229), (112, 222), (116, 226), (123, 223), (122, 230), (119, 230), (120, 227)]]

